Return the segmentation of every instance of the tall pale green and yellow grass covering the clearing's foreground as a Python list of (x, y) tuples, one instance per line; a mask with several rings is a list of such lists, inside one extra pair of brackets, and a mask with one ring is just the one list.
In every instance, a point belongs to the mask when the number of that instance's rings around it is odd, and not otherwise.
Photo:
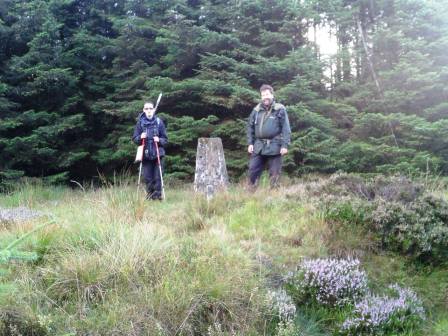
[[(398, 274), (396, 257), (364, 249), (369, 237), (327, 222), (304, 197), (307, 189), (294, 188), (251, 194), (232, 186), (207, 201), (178, 187), (166, 201), (150, 202), (125, 180), (84, 190), (20, 186), (0, 196), (0, 205), (51, 213), (56, 225), (24, 242), (37, 262), (5, 266), (9, 295), (0, 295), (0, 313), (14, 311), (47, 335), (274, 335), (266, 293), (303, 258), (356, 253), (378, 283)], [(44, 220), (3, 226), (0, 244)], [(443, 270), (429, 275), (399, 265), (396, 282), (415, 285), (428, 305), (436, 295), (431, 279), (440, 281), (427, 329), (444, 330)], [(324, 334), (325, 323), (309, 314), (294, 325), (297, 335)]]

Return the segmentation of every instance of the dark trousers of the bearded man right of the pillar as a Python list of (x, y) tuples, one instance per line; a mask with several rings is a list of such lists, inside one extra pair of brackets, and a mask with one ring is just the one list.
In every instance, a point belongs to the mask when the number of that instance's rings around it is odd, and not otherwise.
[(256, 187), (263, 169), (268, 165), (271, 188), (278, 187), (280, 171), (282, 169), (282, 156), (252, 154), (249, 161), (249, 184)]

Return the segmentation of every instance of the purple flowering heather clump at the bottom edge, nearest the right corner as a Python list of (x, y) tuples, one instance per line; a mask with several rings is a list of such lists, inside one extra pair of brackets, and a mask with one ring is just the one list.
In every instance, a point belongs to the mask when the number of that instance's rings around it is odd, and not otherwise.
[(406, 329), (425, 319), (422, 302), (409, 288), (389, 286), (395, 296), (368, 294), (355, 304), (354, 317), (348, 318), (341, 326), (346, 335), (372, 335), (387, 330)]

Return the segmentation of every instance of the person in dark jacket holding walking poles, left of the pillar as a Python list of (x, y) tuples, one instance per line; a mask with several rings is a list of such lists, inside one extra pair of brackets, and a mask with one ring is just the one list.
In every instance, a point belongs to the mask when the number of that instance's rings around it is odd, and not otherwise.
[(140, 145), (145, 142), (143, 150), (143, 177), (146, 183), (146, 197), (153, 200), (162, 199), (162, 177), (160, 176), (157, 148), (159, 149), (160, 165), (163, 170), (163, 157), (168, 137), (163, 121), (154, 115), (155, 108), (152, 102), (146, 102), (143, 112), (139, 114), (137, 124), (134, 128), (132, 140)]

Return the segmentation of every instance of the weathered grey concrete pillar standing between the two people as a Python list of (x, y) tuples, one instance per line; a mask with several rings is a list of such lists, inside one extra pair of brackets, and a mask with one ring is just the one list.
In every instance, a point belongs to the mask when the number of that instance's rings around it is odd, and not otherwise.
[(199, 138), (194, 191), (202, 192), (210, 199), (216, 192), (227, 189), (228, 184), (221, 138)]

